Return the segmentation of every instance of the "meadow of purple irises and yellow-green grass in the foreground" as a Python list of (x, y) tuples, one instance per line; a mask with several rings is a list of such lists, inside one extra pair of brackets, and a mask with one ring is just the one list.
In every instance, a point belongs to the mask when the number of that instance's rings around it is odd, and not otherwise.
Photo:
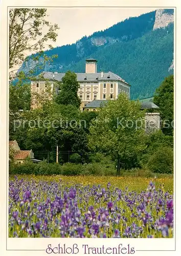
[(10, 177), (9, 237), (172, 238), (173, 179)]

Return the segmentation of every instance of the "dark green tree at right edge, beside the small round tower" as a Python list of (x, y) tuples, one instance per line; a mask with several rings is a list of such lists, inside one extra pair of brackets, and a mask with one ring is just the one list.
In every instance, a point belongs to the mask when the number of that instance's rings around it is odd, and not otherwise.
[(156, 89), (153, 102), (159, 106), (162, 130), (167, 135), (173, 135), (173, 107), (174, 107), (174, 77), (170, 75), (164, 79)]

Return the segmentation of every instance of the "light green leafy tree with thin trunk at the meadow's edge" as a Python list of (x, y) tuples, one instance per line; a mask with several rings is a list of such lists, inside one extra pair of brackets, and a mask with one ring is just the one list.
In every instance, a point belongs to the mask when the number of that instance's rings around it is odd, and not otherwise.
[(109, 100), (90, 125), (89, 147), (96, 152), (109, 152), (117, 159), (117, 174), (124, 161), (145, 148), (145, 113), (140, 103), (130, 101), (125, 93)]

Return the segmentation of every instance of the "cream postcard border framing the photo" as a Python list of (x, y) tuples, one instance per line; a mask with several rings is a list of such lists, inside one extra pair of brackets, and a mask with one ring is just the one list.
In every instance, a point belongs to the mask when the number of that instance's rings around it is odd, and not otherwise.
[[(3, 253), (2, 255), (32, 255), (32, 253), (34, 255), (46, 255), (45, 251), (21, 251), (21, 250), (27, 250), (27, 249), (32, 249), (32, 250), (42, 250), (42, 249), (46, 249), (47, 245), (52, 243), (54, 246), (57, 246), (58, 243), (61, 243), (64, 241), (64, 239), (12, 239), (12, 238), (8, 238), (8, 249), (13, 249), (13, 251), (7, 251), (6, 250), (6, 219), (8, 218), (6, 216), (6, 193), (8, 193), (8, 191), (6, 191), (5, 189), (5, 185), (6, 185), (6, 159), (7, 159), (7, 138), (8, 138), (8, 134), (7, 134), (7, 118), (6, 118), (6, 114), (8, 111), (8, 107), (7, 107), (7, 91), (6, 91), (6, 86), (5, 84), (7, 84), (7, 31), (6, 31), (6, 27), (7, 27), (7, 5), (8, 6), (29, 6), (30, 2), (29, 1), (7, 1), (4, 0), (1, 6), (1, 56), (2, 56), (2, 62), (3, 65), (1, 63), (1, 252)], [(157, 6), (158, 8), (171, 8), (171, 7), (175, 7), (177, 6), (177, 10), (176, 10), (176, 15), (177, 15), (177, 25), (179, 23), (179, 26), (181, 25), (180, 23), (180, 17), (181, 17), (181, 13), (180, 13), (180, 6), (179, 6), (179, 2), (178, 1), (145, 1), (144, 0), (140, 0), (140, 1), (123, 1), (120, 3), (120, 1), (95, 1), (92, 0), (90, 1), (35, 1), (32, 0), (31, 1), (31, 6), (37, 6), (37, 7), (42, 7), (42, 6), (120, 6), (120, 7), (128, 7), (128, 6), (134, 6), (134, 7), (139, 7), (139, 6), (144, 6), (144, 7), (153, 7), (153, 6)], [(176, 24), (176, 23), (175, 23)], [(175, 26), (176, 27), (176, 26)], [(178, 44), (178, 37), (180, 37), (180, 31), (179, 31), (179, 27), (177, 26), (177, 28), (175, 28), (176, 30), (176, 36), (177, 36), (177, 61), (176, 61), (176, 70), (177, 72), (179, 72), (178, 70), (180, 70), (181, 65), (180, 65), (180, 58), (178, 58), (178, 56), (180, 55), (180, 49), (179, 49), (179, 45)], [(3, 40), (2, 40), (3, 38)], [(175, 38), (174, 38), (175, 41)], [(174, 52), (174, 67), (175, 67), (175, 52)], [(174, 73), (175, 73), (175, 69), (174, 69)], [(178, 74), (179, 75), (179, 74)], [(176, 102), (177, 102), (177, 112), (179, 111), (179, 93), (180, 93), (180, 86), (179, 84), (181, 84), (180, 81), (180, 77), (175, 76), (176, 79), (176, 83), (177, 83), (177, 87), (175, 88), (175, 92), (176, 92)], [(178, 112), (180, 113), (180, 112)], [(177, 116), (176, 119), (176, 124), (177, 124), (177, 131), (179, 131), (179, 127), (180, 127), (180, 120), (179, 120), (179, 116)], [(180, 161), (180, 157), (179, 157), (179, 143), (178, 143), (178, 139), (179, 139), (179, 134), (176, 133), (174, 135), (174, 139), (177, 139), (177, 143), (175, 145), (176, 148), (176, 156), (177, 156), (177, 162), (174, 161), (174, 164), (176, 166), (176, 169), (178, 170), (177, 174), (174, 173), (174, 179), (177, 182), (177, 193), (179, 193), (180, 190), (180, 172), (179, 172), (179, 161)], [(176, 175), (176, 177), (175, 177)], [(174, 186), (174, 197), (175, 197), (175, 186)], [(177, 207), (175, 207), (175, 212), (176, 212), (176, 241), (179, 241), (179, 236), (180, 236), (180, 222), (179, 222), (179, 214), (180, 214), (180, 203), (179, 203), (179, 196), (177, 196)], [(175, 227), (175, 226), (174, 226)], [(80, 241), (80, 242), (79, 242)], [(119, 239), (119, 241), (117, 239), (66, 239), (66, 245), (72, 245), (74, 243), (77, 243), (78, 245), (82, 245), (87, 243), (88, 245), (92, 245), (92, 246), (100, 246), (101, 243), (104, 243), (104, 245), (110, 246), (110, 247), (114, 247), (114, 246), (118, 246), (120, 243), (127, 245), (128, 243), (133, 246), (135, 248), (135, 250), (137, 251), (137, 255), (152, 255), (153, 253), (155, 255), (178, 255), (179, 253), (179, 245), (177, 245), (177, 249), (176, 251), (166, 251), (166, 250), (174, 250), (174, 242), (175, 242), (175, 238), (173, 239)], [(138, 250), (165, 250), (165, 251), (138, 251)], [(18, 251), (15, 251), (18, 250)], [(77, 255), (83, 255), (83, 254), (77, 254)]]

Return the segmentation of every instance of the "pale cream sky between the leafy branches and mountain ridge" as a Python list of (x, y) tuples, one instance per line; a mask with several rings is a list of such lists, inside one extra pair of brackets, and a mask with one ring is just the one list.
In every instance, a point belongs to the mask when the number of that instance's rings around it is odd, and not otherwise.
[(111, 27), (128, 17), (140, 16), (155, 8), (48, 8), (47, 19), (60, 27), (54, 47), (73, 44), (83, 36)]

